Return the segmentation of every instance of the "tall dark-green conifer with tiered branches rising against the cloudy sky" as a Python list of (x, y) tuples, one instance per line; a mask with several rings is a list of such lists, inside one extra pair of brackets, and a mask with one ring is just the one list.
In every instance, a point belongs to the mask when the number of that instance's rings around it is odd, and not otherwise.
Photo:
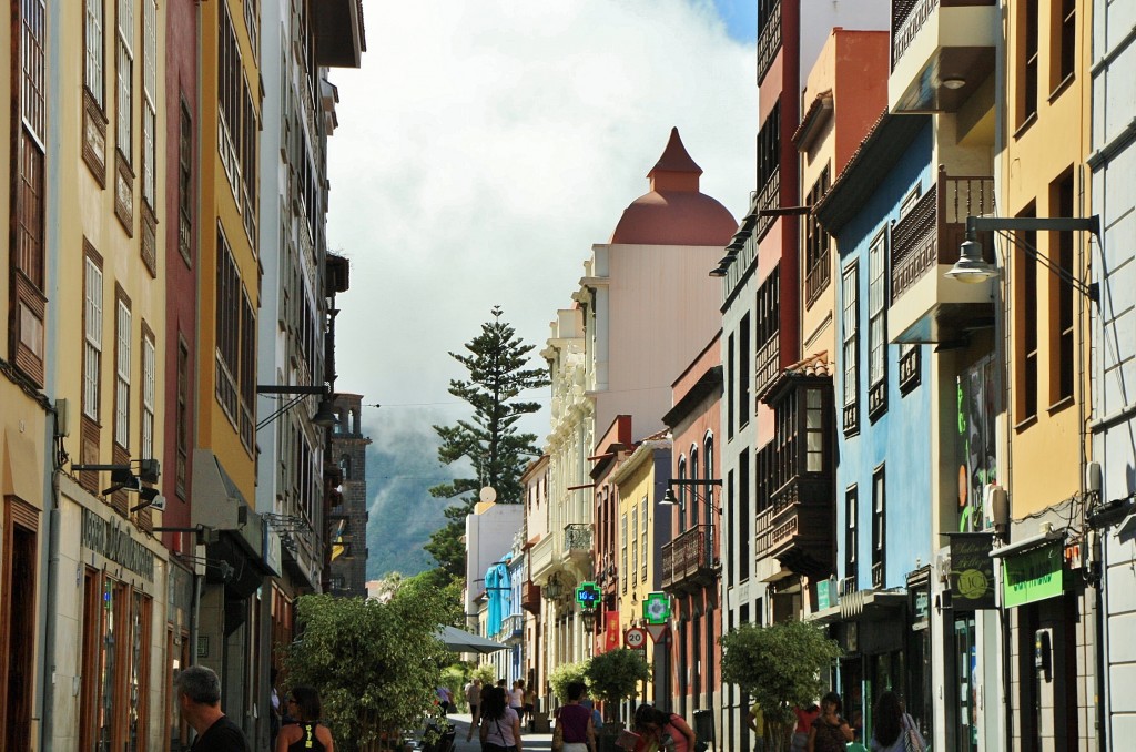
[(478, 491), (491, 486), (498, 503), (524, 501), (520, 475), (529, 459), (538, 454), (536, 434), (520, 433), (517, 421), (541, 409), (537, 402), (517, 398), (526, 390), (550, 384), (543, 368), (527, 368), (534, 345), (525, 344), (516, 331), (501, 320), (501, 307), (493, 307), (493, 319), (482, 324), (482, 332), (466, 343), (467, 353), (450, 357), (466, 367), (466, 379), (450, 381), (450, 394), (461, 398), (474, 409), (469, 420), (452, 426), (434, 426), (442, 440), (437, 458), (444, 465), (466, 459), (473, 476), (454, 478), (429, 490), (435, 499), (458, 499), (449, 507), (449, 523), (431, 536), (425, 549), (440, 568), (453, 577), (465, 576), (465, 517), (478, 501)]

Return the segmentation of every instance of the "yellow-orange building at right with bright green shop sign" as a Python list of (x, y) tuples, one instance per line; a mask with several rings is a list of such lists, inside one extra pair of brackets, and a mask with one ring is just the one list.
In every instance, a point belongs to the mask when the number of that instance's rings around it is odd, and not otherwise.
[[(1008, 3), (1000, 216), (1088, 214), (1091, 5)], [(1008, 312), (1010, 453), (1003, 478), (1013, 548), (1001, 558), (1001, 574), (1016, 749), (1050, 738), (1068, 740), (1068, 749), (1096, 746), (1093, 693), (1079, 688), (1094, 682), (1096, 598), (1079, 555), (1069, 555), (1084, 544), (1095, 304), (1061, 278), (1088, 278), (1089, 240), (1086, 232), (1033, 231), (995, 239)], [(1056, 586), (1030, 586), (1043, 579)]]

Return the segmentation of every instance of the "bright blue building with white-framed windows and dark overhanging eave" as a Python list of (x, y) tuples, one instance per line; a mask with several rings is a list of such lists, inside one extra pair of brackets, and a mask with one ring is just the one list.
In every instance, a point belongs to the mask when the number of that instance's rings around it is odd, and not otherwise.
[(845, 715), (885, 690), (932, 724), (929, 562), (934, 400), (921, 344), (892, 343), (887, 314), (897, 223), (934, 192), (932, 119), (883, 115), (816, 215), (835, 237), (836, 576), (829, 620), (845, 650)]

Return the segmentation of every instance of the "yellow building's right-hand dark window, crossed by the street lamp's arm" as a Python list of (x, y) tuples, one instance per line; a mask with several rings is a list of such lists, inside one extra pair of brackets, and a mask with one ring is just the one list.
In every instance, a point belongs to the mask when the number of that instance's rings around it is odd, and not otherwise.
[[(1066, 173), (1050, 189), (1052, 216), (1074, 216), (1072, 172)], [(1050, 234), (1050, 260), (1055, 267), (1049, 275), (1050, 301), (1055, 311), (1050, 317), (1050, 404), (1072, 399), (1076, 374), (1074, 342), (1074, 287), (1067, 279), (1076, 279), (1074, 267), (1072, 233)]]

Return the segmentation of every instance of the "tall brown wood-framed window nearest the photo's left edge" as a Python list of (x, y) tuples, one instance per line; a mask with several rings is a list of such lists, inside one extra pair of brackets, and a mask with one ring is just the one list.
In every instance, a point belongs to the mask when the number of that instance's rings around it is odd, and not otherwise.
[(15, 190), (11, 214), (15, 248), (9, 256), (11, 301), (8, 307), (9, 357), (36, 385), (43, 384), (43, 332), (47, 316), (44, 294), (43, 174), (44, 87), (47, 85), (43, 47), (43, 0), (19, 0), (19, 34), (12, 40), (12, 67), (18, 83), (12, 83), (14, 106), (19, 112), (16, 135)]

